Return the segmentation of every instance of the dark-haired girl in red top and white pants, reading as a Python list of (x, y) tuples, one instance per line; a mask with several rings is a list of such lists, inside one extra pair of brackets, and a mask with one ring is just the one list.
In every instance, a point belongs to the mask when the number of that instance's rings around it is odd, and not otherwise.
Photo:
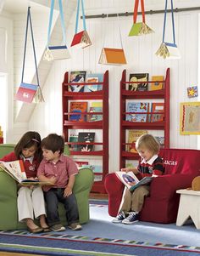
[[(15, 145), (14, 151), (0, 159), (3, 162), (22, 160), (27, 179), (36, 179), (37, 168), (42, 161), (41, 136), (36, 132), (25, 133)], [(25, 221), (31, 233), (50, 231), (46, 222), (46, 210), (42, 187), (39, 185), (19, 186), (18, 191), (19, 221)], [(40, 219), (40, 226), (34, 223)]]

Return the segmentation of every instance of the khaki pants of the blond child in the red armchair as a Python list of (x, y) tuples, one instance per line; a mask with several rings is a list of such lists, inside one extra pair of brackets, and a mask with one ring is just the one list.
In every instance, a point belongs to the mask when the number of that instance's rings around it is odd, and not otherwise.
[(124, 211), (125, 213), (140, 212), (142, 210), (145, 197), (149, 195), (149, 191), (149, 185), (141, 185), (133, 192), (125, 188), (122, 199), (123, 202), (121, 203), (119, 211)]

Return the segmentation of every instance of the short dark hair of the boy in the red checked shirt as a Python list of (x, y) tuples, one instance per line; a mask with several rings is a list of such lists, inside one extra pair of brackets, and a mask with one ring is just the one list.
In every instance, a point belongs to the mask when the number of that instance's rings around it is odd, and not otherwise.
[(60, 154), (64, 152), (64, 137), (58, 134), (49, 134), (46, 138), (42, 139), (42, 149), (47, 151), (60, 151)]

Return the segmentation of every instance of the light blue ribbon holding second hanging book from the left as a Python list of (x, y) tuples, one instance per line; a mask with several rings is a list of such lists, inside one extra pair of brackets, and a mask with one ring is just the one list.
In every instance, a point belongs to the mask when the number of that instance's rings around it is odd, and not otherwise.
[[(65, 26), (64, 26), (64, 11), (63, 11), (63, 4), (62, 0), (58, 0), (59, 3), (59, 14), (60, 14), (60, 20), (61, 20), (61, 26), (63, 31), (63, 43), (66, 45), (66, 33), (65, 33)], [(50, 42), (50, 35), (51, 35), (51, 29), (52, 29), (52, 20), (53, 20), (53, 9), (54, 9), (54, 0), (51, 2), (51, 9), (50, 9), (50, 15), (49, 15), (49, 22), (48, 22), (48, 34), (47, 34), (47, 47)]]

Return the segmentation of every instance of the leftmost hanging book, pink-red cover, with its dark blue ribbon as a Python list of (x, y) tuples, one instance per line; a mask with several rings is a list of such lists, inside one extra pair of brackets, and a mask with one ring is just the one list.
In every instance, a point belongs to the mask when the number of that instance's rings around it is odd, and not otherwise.
[[(35, 67), (36, 67), (36, 82), (37, 82), (37, 84), (31, 84), (31, 83), (24, 82), (25, 54), (26, 54), (26, 44), (27, 44), (29, 24), (31, 27), (31, 40), (32, 40), (32, 48), (33, 48), (34, 61), (35, 61)], [(17, 91), (17, 94), (15, 95), (15, 100), (21, 100), (21, 101), (24, 101), (27, 103), (44, 102), (44, 98), (42, 95), (42, 89), (41, 89), (40, 83), (39, 83), (37, 65), (36, 65), (36, 48), (35, 48), (35, 43), (34, 43), (32, 22), (31, 22), (31, 7), (28, 7), (28, 12), (27, 12), (27, 20), (26, 20), (26, 27), (25, 27), (25, 48), (24, 48), (21, 83), (20, 83), (19, 89)]]

